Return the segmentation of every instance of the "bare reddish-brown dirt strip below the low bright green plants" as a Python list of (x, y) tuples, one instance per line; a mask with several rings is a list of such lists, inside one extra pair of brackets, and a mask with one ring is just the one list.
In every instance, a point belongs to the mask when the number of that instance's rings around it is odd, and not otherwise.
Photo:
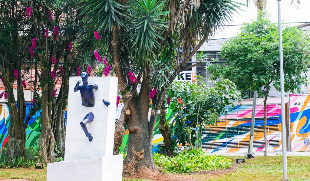
[(206, 170), (200, 173), (191, 173), (191, 174), (165, 174), (163, 172), (158, 172), (151, 170), (149, 168), (139, 168), (139, 171), (135, 173), (134, 176), (126, 177), (131, 179), (148, 179), (154, 181), (193, 181), (193, 180), (205, 180), (208, 177), (213, 177), (217, 175), (226, 174), (237, 170), (235, 165), (232, 165), (227, 169), (218, 169), (218, 170)]

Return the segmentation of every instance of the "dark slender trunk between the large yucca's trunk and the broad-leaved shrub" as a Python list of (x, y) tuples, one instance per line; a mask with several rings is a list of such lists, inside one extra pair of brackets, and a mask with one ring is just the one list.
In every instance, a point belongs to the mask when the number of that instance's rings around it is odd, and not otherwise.
[(166, 112), (162, 111), (160, 113), (160, 121), (158, 129), (160, 130), (162, 136), (164, 137), (165, 150), (167, 156), (174, 157), (175, 153), (173, 152), (174, 148), (172, 148), (171, 132), (169, 130), (169, 125), (164, 126), (165, 123), (166, 123)]

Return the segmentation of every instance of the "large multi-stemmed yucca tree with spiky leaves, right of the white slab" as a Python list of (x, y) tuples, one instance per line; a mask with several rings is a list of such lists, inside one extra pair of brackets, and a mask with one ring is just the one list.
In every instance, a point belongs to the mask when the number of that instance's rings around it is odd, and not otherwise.
[[(125, 126), (128, 151), (144, 150), (138, 167), (156, 170), (152, 157), (153, 129), (167, 87), (205, 40), (230, 21), (238, 3), (215, 1), (81, 0), (82, 13), (97, 29), (118, 77), (124, 107), (115, 128), (118, 154)], [(139, 94), (137, 86), (141, 84)], [(150, 99), (151, 118), (148, 120)], [(129, 111), (127, 111), (129, 110)], [(127, 114), (126, 114), (127, 111)], [(130, 157), (128, 154), (127, 157)]]

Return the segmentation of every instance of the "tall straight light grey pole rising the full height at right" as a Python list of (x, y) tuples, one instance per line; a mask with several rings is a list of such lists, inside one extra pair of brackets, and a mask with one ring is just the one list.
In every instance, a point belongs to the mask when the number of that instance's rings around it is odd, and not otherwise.
[(282, 125), (283, 180), (287, 180), (286, 128), (285, 128), (285, 102), (284, 102), (284, 73), (283, 73), (283, 49), (282, 49), (282, 25), (281, 25), (281, 0), (277, 0), (277, 1), (278, 1), (278, 16), (279, 16), (279, 48), (280, 48), (280, 87), (281, 87), (281, 125)]

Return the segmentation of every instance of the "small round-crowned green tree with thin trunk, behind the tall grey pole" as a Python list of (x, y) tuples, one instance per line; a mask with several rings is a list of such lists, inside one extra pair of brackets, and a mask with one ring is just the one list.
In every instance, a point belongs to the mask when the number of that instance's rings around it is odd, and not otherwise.
[[(228, 67), (210, 66), (214, 77), (224, 77), (235, 82), (239, 90), (249, 87), (264, 96), (264, 138), (267, 155), (267, 98), (271, 84), (280, 91), (279, 35), (277, 24), (273, 24), (265, 11), (257, 19), (245, 23), (241, 32), (223, 45), (220, 53), (226, 58)], [(302, 73), (307, 71), (310, 57), (309, 36), (297, 27), (283, 29), (283, 62), (285, 91), (294, 92), (306, 80)], [(263, 87), (263, 89), (262, 89)]]

